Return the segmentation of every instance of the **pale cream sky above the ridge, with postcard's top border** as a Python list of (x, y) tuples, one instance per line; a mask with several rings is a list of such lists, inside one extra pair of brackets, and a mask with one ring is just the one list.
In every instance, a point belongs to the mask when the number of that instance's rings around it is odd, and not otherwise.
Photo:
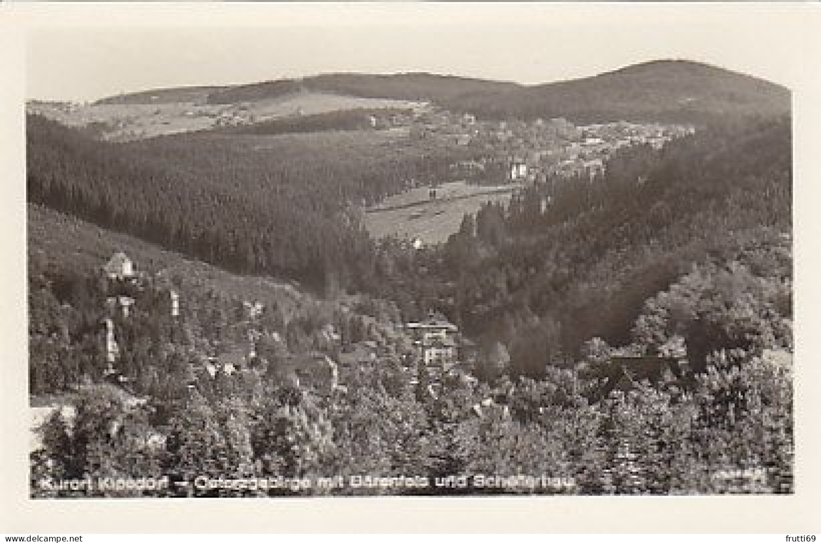
[(220, 17), (194, 7), (187, 17), (144, 9), (110, 22), (66, 18), (34, 25), (27, 96), (85, 101), (337, 71), (429, 71), (533, 84), (664, 58), (791, 86), (809, 61), (796, 56), (807, 34), (798, 28), (800, 12), (789, 6), (222, 6), (228, 11)]

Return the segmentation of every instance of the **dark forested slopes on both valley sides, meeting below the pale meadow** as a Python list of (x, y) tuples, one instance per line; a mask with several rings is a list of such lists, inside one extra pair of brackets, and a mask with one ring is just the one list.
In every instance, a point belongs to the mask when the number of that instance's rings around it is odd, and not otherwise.
[(187, 136), (116, 146), (37, 118), (30, 126), (32, 202), (229, 270), (369, 291), (407, 316), (441, 309), (470, 335), (510, 345), (514, 367), (531, 375), (594, 336), (628, 343), (644, 300), (693, 264), (727, 265), (745, 240), (791, 232), (786, 119), (627, 149), (603, 177), (534, 185), (509, 208), (466, 217), (441, 253), (416, 254), (390, 240), (377, 248), (344, 204), (435, 177), (447, 149), (344, 133), (328, 144)]

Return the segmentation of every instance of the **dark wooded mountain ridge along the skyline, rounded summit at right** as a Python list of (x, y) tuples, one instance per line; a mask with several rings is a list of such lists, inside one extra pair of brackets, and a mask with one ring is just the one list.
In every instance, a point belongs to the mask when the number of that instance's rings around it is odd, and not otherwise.
[(651, 60), (598, 75), (542, 84), (424, 71), (336, 72), (250, 84), (140, 91), (103, 98), (98, 103), (157, 103), (175, 91), (195, 94), (209, 104), (259, 102), (309, 92), (423, 100), (489, 118), (565, 116), (585, 121), (773, 115), (790, 109), (790, 90), (780, 84), (685, 59)]

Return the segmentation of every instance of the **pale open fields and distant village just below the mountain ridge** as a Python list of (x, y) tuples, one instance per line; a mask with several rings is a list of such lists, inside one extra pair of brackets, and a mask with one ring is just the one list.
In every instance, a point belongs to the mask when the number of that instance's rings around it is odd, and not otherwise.
[(328, 112), (360, 110), (366, 121), (362, 125), (370, 130), (470, 149), (480, 158), (454, 162), (452, 179), (490, 185), (539, 183), (549, 176), (598, 176), (603, 174), (608, 158), (621, 148), (650, 145), (658, 149), (672, 139), (695, 132), (693, 125), (659, 122), (585, 125), (561, 117), (478, 120), (473, 114), (450, 112), (430, 103), (319, 94), (236, 104), (158, 102), (126, 106), (31, 101), (26, 109), (67, 125), (93, 126), (100, 130), (101, 137), (115, 141), (221, 126), (253, 126), (277, 119), (299, 121)]

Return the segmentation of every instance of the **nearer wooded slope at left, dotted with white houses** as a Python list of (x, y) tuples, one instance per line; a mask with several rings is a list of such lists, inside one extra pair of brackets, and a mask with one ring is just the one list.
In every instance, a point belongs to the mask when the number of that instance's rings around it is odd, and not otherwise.
[[(116, 323), (118, 372), (127, 378), (128, 389), (166, 399), (185, 395), (195, 372), (213, 354), (245, 351), (266, 341), (277, 344), (280, 356), (316, 349), (334, 354), (338, 346), (328, 344), (327, 326), (356, 342), (373, 340), (380, 327), (399, 321), (389, 303), (370, 303), (363, 296), (317, 299), (292, 285), (236, 276), (47, 208), (30, 205), (28, 212), (33, 395), (106, 381), (106, 318)], [(103, 264), (119, 251), (135, 258), (139, 285), (112, 283), (104, 276)], [(179, 296), (176, 316), (172, 291)], [(118, 296), (135, 299), (127, 315), (112, 313), (112, 299)], [(250, 316), (248, 303), (262, 304), (262, 312)], [(363, 311), (381, 315), (381, 322)]]

